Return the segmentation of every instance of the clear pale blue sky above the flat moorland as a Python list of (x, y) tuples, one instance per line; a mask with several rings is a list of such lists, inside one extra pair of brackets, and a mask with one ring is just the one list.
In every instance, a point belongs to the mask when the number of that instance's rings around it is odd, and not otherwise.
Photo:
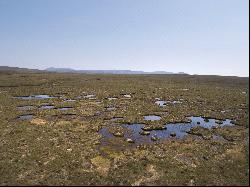
[(248, 0), (0, 0), (0, 66), (249, 76)]

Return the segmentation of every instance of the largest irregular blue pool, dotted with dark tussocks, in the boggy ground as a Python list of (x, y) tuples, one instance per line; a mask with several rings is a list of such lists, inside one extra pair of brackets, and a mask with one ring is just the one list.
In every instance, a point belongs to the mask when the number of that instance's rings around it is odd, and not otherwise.
[[(117, 124), (124, 128), (124, 138), (130, 138), (135, 141), (135, 145), (143, 143), (152, 143), (152, 137), (156, 137), (157, 141), (162, 141), (166, 139), (183, 139), (188, 136), (188, 131), (196, 126), (201, 126), (207, 129), (213, 127), (224, 127), (224, 126), (233, 126), (231, 120), (226, 119), (218, 123), (216, 119), (205, 120), (203, 117), (188, 117), (191, 120), (190, 123), (169, 123), (166, 124), (166, 129), (164, 130), (151, 130), (149, 135), (141, 135), (143, 132), (142, 128), (145, 127), (145, 124)], [(99, 133), (103, 136), (104, 139), (114, 138), (113, 134), (108, 131), (108, 128), (102, 128)], [(174, 136), (173, 136), (174, 134)], [(191, 136), (191, 135), (189, 135)], [(218, 135), (213, 135), (214, 140), (224, 140), (223, 137)]]

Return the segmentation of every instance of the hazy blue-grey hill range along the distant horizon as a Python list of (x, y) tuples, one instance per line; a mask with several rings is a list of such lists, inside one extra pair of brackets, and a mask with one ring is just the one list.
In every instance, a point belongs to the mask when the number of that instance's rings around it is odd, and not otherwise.
[(87, 74), (186, 74), (184, 72), (173, 73), (166, 71), (132, 71), (132, 70), (74, 70), (71, 68), (54, 68), (50, 67), (45, 69), (49, 72), (58, 72), (58, 73), (87, 73)]

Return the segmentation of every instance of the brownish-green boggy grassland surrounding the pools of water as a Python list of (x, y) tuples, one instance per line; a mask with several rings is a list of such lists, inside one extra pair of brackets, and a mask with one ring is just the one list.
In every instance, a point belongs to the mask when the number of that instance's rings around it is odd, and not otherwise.
[[(1, 73), (0, 184), (249, 185), (248, 83), (218, 76)], [(56, 98), (13, 98), (36, 94)], [(156, 98), (181, 103), (159, 107)], [(44, 104), (55, 108), (40, 109)], [(24, 105), (34, 107), (17, 108)], [(22, 114), (34, 116), (17, 119)], [(161, 120), (144, 121), (144, 115)], [(205, 131), (226, 141), (188, 135), (131, 146), (123, 137), (105, 142), (99, 133), (114, 123), (159, 126), (191, 115), (236, 125)]]

